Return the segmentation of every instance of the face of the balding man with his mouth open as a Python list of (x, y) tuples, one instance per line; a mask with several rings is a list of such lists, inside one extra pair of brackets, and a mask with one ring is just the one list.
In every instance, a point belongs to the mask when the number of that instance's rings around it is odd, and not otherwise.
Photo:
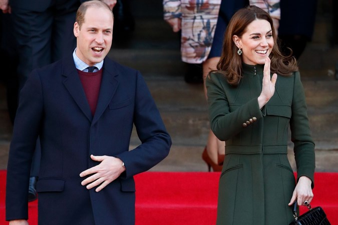
[(92, 66), (104, 59), (112, 46), (113, 15), (106, 8), (89, 7), (81, 28), (74, 24), (77, 37), (76, 55)]

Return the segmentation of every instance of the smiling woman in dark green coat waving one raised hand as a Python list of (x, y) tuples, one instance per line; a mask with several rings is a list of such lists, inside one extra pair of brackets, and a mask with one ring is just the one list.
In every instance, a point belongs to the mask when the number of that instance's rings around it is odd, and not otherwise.
[[(314, 142), (297, 61), (277, 45), (271, 16), (248, 6), (231, 18), (206, 78), (211, 129), (226, 142), (217, 224), (285, 225), (313, 198)], [(297, 166), (287, 157), (288, 126)]]

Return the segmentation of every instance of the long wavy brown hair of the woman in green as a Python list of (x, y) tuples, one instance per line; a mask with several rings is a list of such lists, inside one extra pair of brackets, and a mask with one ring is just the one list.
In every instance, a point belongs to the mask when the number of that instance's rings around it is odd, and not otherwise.
[(237, 54), (237, 46), (232, 37), (237, 35), (241, 37), (246, 31), (246, 27), (255, 19), (267, 20), (272, 28), (272, 37), (274, 45), (269, 55), (271, 59), (270, 71), (279, 75), (290, 75), (293, 71), (298, 70), (297, 61), (290, 55), (283, 55), (278, 47), (277, 35), (273, 27), (272, 18), (263, 9), (249, 5), (246, 8), (239, 9), (231, 18), (223, 40), (222, 54), (217, 63), (217, 70), (211, 72), (219, 72), (225, 75), (228, 83), (237, 85), (241, 79), (242, 56)]

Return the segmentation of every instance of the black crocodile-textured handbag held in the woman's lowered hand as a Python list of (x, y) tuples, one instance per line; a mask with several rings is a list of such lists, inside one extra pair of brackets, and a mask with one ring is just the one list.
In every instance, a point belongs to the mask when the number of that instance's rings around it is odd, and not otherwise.
[(307, 212), (297, 216), (297, 202), (294, 202), (294, 221), (292, 221), (289, 225), (331, 225), (331, 223), (327, 220), (324, 210), (320, 206), (311, 208), (311, 205), (308, 204), (307, 208)]

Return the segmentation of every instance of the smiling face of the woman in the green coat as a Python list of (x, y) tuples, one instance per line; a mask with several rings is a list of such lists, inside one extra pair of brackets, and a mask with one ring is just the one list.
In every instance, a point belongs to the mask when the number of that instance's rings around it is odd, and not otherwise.
[(265, 19), (255, 19), (249, 23), (241, 37), (233, 35), (233, 41), (242, 49), (244, 63), (264, 64), (274, 43), (271, 25)]

